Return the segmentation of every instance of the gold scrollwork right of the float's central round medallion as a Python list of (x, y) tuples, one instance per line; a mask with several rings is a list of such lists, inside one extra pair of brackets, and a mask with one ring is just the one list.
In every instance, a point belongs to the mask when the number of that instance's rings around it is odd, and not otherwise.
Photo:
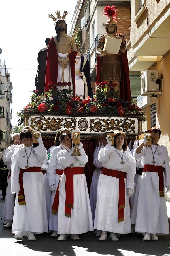
[[(104, 127), (104, 128), (103, 128)], [(121, 130), (126, 133), (135, 133), (135, 120), (132, 119), (90, 119), (90, 131), (105, 132), (109, 130)]]

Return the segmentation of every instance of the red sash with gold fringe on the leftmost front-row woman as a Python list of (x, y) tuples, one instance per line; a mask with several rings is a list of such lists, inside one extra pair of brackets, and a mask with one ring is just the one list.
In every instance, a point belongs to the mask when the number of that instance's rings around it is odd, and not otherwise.
[(28, 169), (20, 169), (20, 174), (19, 174), (20, 192), (18, 194), (19, 205), (26, 205), (24, 189), (23, 189), (23, 181), (22, 181), (24, 172), (41, 172), (41, 167), (29, 167)]

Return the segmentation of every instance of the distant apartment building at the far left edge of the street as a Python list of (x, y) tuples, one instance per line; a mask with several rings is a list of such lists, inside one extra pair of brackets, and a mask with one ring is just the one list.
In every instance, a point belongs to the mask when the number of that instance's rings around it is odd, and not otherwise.
[(3, 139), (0, 142), (0, 150), (7, 148), (11, 144), (10, 133), (12, 131), (12, 82), (6, 65), (0, 65), (0, 129), (4, 130)]

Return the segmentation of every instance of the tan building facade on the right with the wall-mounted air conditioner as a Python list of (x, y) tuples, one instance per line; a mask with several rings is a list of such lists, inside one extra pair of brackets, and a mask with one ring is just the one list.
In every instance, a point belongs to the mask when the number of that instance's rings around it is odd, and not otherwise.
[[(167, 147), (170, 155), (170, 1), (131, 0), (131, 37), (127, 45), (129, 70), (141, 73), (142, 93), (138, 106), (145, 111), (143, 131), (160, 127), (162, 137), (159, 144)], [(158, 71), (158, 92), (143, 91), (142, 77), (146, 70)], [(146, 72), (145, 72), (146, 73)], [(162, 78), (162, 79), (161, 79)], [(149, 88), (150, 79), (147, 77)], [(146, 87), (146, 83), (145, 83)], [(153, 88), (152, 88), (153, 89)], [(147, 89), (148, 91), (150, 89)], [(152, 94), (152, 95), (151, 95)]]

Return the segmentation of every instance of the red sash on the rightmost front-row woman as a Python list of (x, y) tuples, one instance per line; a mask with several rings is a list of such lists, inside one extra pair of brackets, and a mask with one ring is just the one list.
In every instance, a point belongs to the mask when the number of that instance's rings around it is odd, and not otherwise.
[(159, 194), (160, 197), (165, 197), (164, 194), (164, 178), (163, 178), (163, 167), (159, 165), (145, 164), (144, 172), (158, 172), (159, 177)]

